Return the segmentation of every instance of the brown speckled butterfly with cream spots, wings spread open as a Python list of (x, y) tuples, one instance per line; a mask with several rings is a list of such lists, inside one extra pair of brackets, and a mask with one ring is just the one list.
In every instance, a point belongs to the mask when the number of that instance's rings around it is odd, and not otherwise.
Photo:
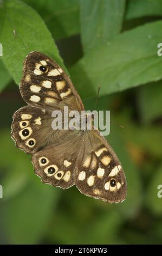
[(86, 196), (108, 203), (125, 200), (121, 163), (98, 130), (53, 130), (54, 110), (85, 108), (69, 76), (51, 58), (31, 52), (24, 60), (20, 92), (27, 106), (13, 115), (11, 137), (32, 155), (42, 182), (63, 189), (75, 185)]

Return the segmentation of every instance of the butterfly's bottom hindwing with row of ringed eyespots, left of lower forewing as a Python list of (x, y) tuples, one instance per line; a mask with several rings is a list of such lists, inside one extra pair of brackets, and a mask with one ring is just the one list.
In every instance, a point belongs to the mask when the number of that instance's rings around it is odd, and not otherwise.
[(43, 148), (33, 155), (35, 173), (42, 182), (63, 189), (74, 185), (77, 154), (82, 136), (77, 131), (63, 141)]

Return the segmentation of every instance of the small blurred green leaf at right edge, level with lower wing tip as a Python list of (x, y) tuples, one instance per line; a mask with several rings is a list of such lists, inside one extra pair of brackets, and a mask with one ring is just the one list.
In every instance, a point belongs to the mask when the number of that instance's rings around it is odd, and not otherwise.
[(146, 194), (146, 205), (148, 209), (155, 215), (161, 216), (162, 214), (162, 198), (158, 197), (158, 186), (162, 186), (162, 164), (157, 169), (153, 169), (152, 179)]

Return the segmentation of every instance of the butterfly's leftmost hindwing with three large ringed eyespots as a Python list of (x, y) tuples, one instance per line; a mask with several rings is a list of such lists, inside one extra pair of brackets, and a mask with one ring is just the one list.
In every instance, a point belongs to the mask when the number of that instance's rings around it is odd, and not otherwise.
[(18, 148), (27, 154), (34, 154), (50, 144), (62, 141), (71, 130), (53, 130), (51, 111), (25, 106), (13, 115), (11, 137)]

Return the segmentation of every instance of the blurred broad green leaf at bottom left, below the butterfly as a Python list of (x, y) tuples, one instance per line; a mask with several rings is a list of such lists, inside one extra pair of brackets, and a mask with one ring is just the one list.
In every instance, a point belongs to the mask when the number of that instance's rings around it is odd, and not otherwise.
[(41, 184), (38, 179), (37, 183), (29, 184), (15, 198), (1, 205), (3, 225), (10, 243), (39, 243), (54, 214), (60, 191)]

